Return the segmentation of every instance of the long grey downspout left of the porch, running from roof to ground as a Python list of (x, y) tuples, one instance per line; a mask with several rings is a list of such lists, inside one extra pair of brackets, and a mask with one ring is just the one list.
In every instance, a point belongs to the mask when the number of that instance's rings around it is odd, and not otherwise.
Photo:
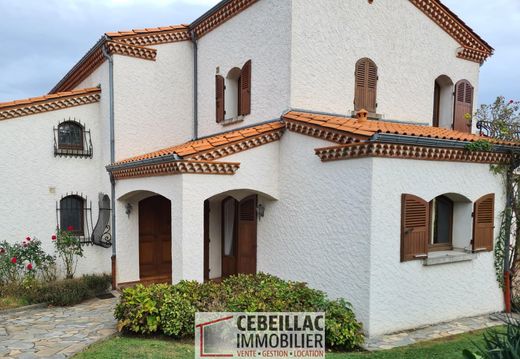
[[(109, 40), (105, 36), (105, 41)], [(108, 87), (109, 87), (109, 123), (110, 123), (110, 163), (114, 163), (115, 155), (115, 126), (114, 126), (114, 61), (112, 56), (108, 53), (106, 46), (102, 47), (103, 56), (108, 61)], [(116, 289), (116, 181), (114, 176), (110, 174), (110, 200), (112, 207), (112, 289)]]

